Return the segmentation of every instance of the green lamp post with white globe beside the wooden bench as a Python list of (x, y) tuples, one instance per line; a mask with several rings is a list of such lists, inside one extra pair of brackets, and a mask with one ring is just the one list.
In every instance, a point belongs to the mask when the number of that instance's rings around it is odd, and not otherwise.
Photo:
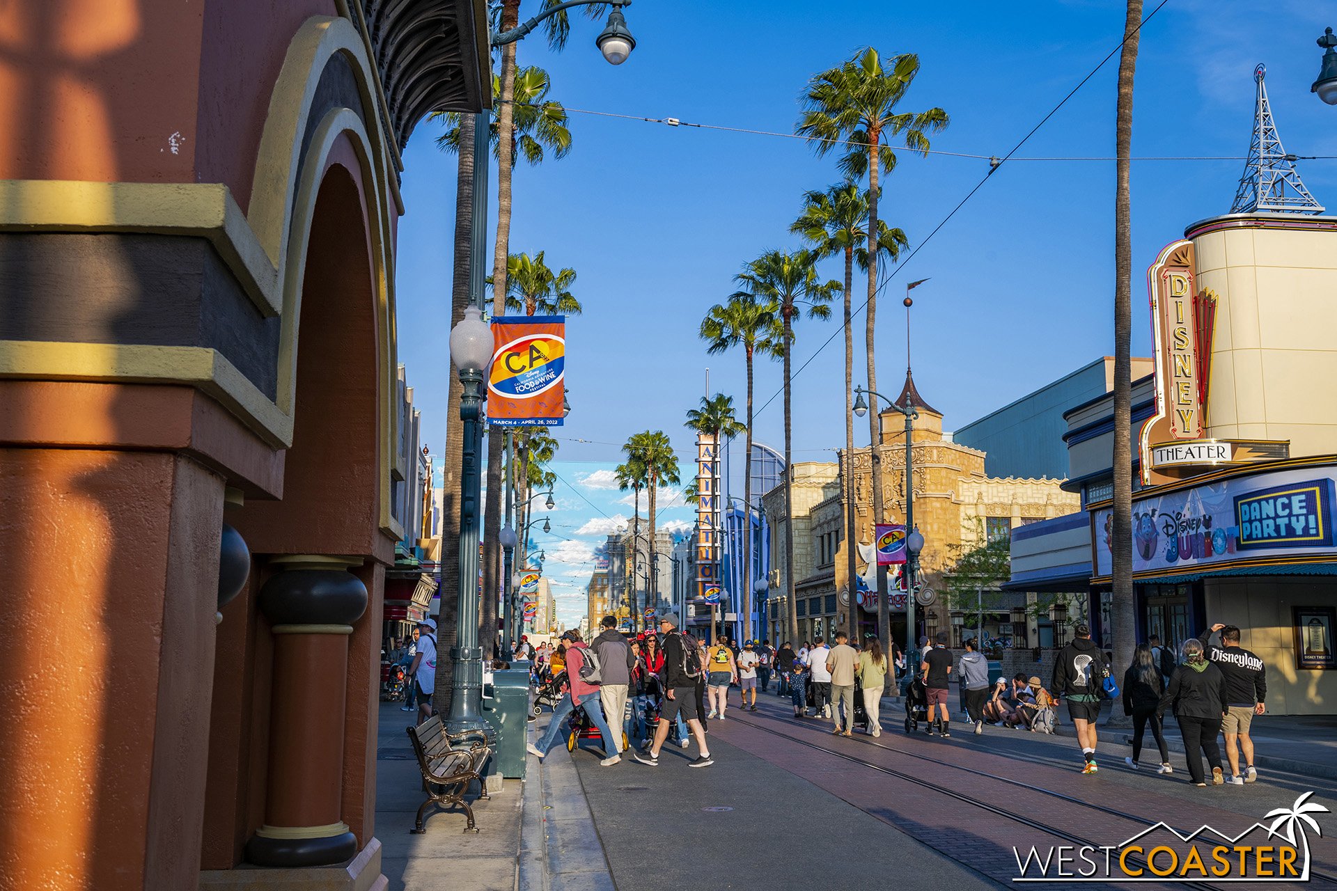
[[(451, 648), (455, 673), (451, 679), (452, 733), (489, 732), (483, 720), (483, 649), (479, 647), (479, 497), (483, 474), (483, 373), (492, 361), (492, 329), (477, 306), (464, 310), (464, 318), (451, 330), (451, 362), (460, 373), (460, 422), (464, 448), (460, 460), (460, 601), (456, 612), (456, 645)], [(471, 621), (472, 618), (472, 621)]]

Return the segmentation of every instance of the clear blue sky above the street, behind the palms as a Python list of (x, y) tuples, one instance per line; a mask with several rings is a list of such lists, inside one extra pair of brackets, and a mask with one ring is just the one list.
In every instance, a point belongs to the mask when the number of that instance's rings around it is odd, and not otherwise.
[[(1155, 5), (1146, 3), (1148, 12)], [(638, 45), (620, 67), (604, 63), (594, 48), (602, 23), (583, 17), (574, 19), (563, 53), (550, 52), (535, 35), (520, 44), (519, 57), (548, 69), (552, 98), (570, 110), (792, 132), (798, 95), (814, 72), (866, 44), (884, 53), (916, 52), (921, 71), (904, 107), (940, 106), (952, 118), (933, 147), (1001, 156), (1118, 44), (1122, 7), (1112, 0), (636, 0), (627, 24)], [(523, 5), (525, 15), (536, 8), (536, 0)], [(1337, 4), (1273, 0), (1261, 12), (1253, 3), (1169, 0), (1142, 32), (1134, 155), (1242, 159), (1258, 61), (1267, 64), (1269, 96), (1288, 151), (1337, 155), (1337, 108), (1309, 92), (1321, 57), (1314, 40), (1329, 24), (1337, 24)], [(1051, 118), (1019, 158), (1112, 155), (1116, 61)], [(683, 413), (706, 391), (707, 367), (710, 389), (734, 394), (741, 409), (742, 357), (707, 357), (697, 337), (701, 318), (733, 290), (743, 262), (767, 248), (798, 246), (787, 228), (802, 192), (840, 176), (832, 158), (816, 158), (796, 139), (575, 111), (571, 128), (566, 159), (516, 171), (511, 250), (545, 250), (550, 263), (579, 274), (574, 293), (584, 315), (567, 327), (574, 410), (555, 433), (563, 460), (604, 464), (562, 472), (578, 485), (574, 477), (611, 466), (618, 445), (639, 430), (663, 429), (679, 456), (690, 458)], [(456, 179), (455, 158), (433, 144), (437, 132), (424, 122), (405, 152), (396, 278), (400, 361), (433, 452), (447, 423)], [(1185, 226), (1229, 211), (1242, 167), (1242, 160), (1134, 164), (1135, 353), (1150, 349), (1140, 270)], [(987, 170), (984, 160), (902, 154), (885, 180), (882, 214), (916, 247)], [(1318, 200), (1337, 210), (1337, 162), (1302, 162), (1300, 170)], [(915, 291), (915, 379), (945, 413), (947, 429), (1111, 353), (1112, 202), (1112, 162), (1012, 160), (1000, 167), (882, 291), (878, 389), (894, 394), (904, 379), (900, 299), (904, 283), (920, 278), (931, 281)], [(495, 211), (489, 223), (495, 226)], [(826, 271), (841, 274), (837, 262)], [(856, 326), (861, 343), (861, 315)], [(800, 323), (796, 367), (814, 353), (794, 379), (796, 461), (829, 460), (844, 439), (837, 322)], [(862, 363), (857, 350), (856, 369)], [(757, 406), (778, 389), (778, 363), (761, 365)], [(778, 398), (759, 411), (755, 429), (759, 439), (782, 445)], [(860, 443), (866, 442), (862, 430)], [(600, 516), (580, 505), (571, 508), (568, 532)]]

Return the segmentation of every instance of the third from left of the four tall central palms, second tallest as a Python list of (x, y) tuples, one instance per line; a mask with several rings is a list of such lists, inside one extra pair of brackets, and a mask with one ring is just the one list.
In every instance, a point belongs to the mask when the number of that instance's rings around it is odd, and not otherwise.
[[(877, 220), (880, 254), (886, 255), (892, 262), (900, 256), (905, 247), (905, 232), (900, 228), (890, 228), (882, 220)], [(854, 389), (854, 325), (853, 325), (853, 290), (854, 290), (854, 263), (860, 269), (868, 269), (868, 196), (864, 195), (854, 180), (846, 179), (840, 186), (830, 186), (826, 191), (809, 191), (804, 194), (804, 210), (794, 220), (789, 231), (798, 232), (813, 246), (813, 251), (820, 256), (844, 256), (845, 259), (845, 577), (850, 596), (856, 588), (858, 557), (854, 542), (858, 540), (858, 530), (854, 522), (854, 405), (852, 393)], [(886, 614), (884, 616), (882, 612)], [(794, 622), (797, 624), (797, 618)], [(849, 636), (856, 640), (858, 631), (858, 617), (853, 605), (849, 609)], [(884, 633), (885, 631), (885, 633)], [(878, 606), (878, 636), (884, 643), (890, 641), (890, 610)], [(889, 648), (884, 652), (892, 652)]]

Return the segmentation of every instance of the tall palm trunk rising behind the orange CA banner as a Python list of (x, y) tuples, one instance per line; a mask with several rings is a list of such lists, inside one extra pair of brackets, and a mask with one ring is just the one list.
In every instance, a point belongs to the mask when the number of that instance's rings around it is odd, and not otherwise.
[[(501, 9), (501, 29), (509, 31), (520, 20), (520, 0), (507, 0)], [(501, 49), (501, 102), (497, 110), (497, 238), (492, 248), (492, 315), (505, 315), (505, 260), (511, 243), (511, 164), (515, 112), (515, 44)], [(483, 614), (479, 640), (484, 659), (492, 657), (497, 632), (497, 577), (501, 549), (501, 452), (503, 437), (488, 435), (488, 492), (484, 498), (483, 522), (483, 596), (479, 598)]]

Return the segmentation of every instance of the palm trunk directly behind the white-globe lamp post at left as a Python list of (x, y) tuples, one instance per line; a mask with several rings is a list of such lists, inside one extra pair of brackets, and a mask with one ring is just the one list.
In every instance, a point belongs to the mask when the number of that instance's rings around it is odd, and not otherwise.
[[(451, 282), (451, 327), (469, 306), (469, 243), (473, 239), (473, 115), (460, 115), (460, 166), (455, 188), (455, 278)], [(460, 465), (464, 461), (464, 427), (460, 422), (460, 395), (464, 386), (457, 374), (449, 375), (451, 393), (445, 411), (445, 457), (441, 461), (441, 604), (436, 617), (436, 640), (444, 653), (459, 643), (456, 616), (460, 608)], [(433, 700), (437, 711), (451, 711), (455, 660), (437, 660)]]

